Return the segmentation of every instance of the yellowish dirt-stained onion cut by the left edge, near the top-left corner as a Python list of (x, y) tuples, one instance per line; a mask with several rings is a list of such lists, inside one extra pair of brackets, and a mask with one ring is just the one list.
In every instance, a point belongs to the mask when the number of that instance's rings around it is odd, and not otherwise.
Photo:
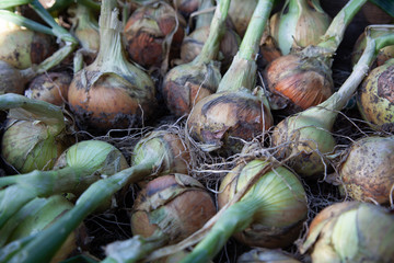
[(18, 69), (26, 69), (55, 52), (50, 36), (21, 28), (2, 19), (0, 24), (0, 60)]

